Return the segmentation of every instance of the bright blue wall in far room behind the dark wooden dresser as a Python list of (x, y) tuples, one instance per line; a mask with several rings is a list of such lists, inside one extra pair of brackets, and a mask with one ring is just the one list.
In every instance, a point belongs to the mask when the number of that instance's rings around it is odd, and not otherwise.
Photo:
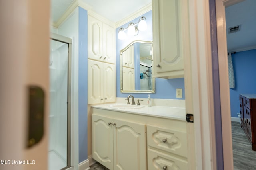
[(240, 113), (239, 94), (256, 94), (256, 49), (232, 54), (235, 88), (230, 88), (231, 117)]

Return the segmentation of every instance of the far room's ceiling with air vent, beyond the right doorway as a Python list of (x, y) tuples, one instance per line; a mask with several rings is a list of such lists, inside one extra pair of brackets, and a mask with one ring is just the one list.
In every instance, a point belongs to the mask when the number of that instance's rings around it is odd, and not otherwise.
[[(256, 0), (245, 0), (226, 8), (228, 51), (256, 48)], [(241, 25), (240, 31), (228, 33), (228, 28)]]

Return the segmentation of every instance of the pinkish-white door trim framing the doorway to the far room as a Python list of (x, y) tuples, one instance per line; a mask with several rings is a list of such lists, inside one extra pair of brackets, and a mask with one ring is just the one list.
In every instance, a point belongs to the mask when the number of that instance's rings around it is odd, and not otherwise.
[(217, 41), (218, 41), (218, 65), (219, 65), (219, 80), (220, 80), (220, 105), (222, 119), (222, 148), (224, 170), (233, 169), (233, 150), (232, 150), (232, 131), (231, 131), (231, 116), (230, 116), (230, 92), (228, 82), (228, 57), (226, 56), (227, 41), (226, 41), (226, 16), (225, 5), (231, 5), (241, 0), (216, 0), (216, 21), (217, 21)]

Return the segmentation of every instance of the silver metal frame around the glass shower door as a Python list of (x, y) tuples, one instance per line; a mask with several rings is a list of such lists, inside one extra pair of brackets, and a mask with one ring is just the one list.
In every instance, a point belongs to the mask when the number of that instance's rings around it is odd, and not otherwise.
[(60, 169), (65, 170), (71, 167), (71, 60), (72, 60), (72, 39), (58, 35), (50, 34), (50, 39), (68, 44), (68, 101), (67, 101), (67, 166)]

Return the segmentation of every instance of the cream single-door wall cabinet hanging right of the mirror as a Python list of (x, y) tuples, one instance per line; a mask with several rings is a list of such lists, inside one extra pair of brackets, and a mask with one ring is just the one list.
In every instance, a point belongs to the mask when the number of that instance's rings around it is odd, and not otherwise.
[[(186, 0), (152, 0), (153, 75), (184, 77), (184, 31), (188, 28)], [(186, 25), (187, 24), (187, 25)]]

